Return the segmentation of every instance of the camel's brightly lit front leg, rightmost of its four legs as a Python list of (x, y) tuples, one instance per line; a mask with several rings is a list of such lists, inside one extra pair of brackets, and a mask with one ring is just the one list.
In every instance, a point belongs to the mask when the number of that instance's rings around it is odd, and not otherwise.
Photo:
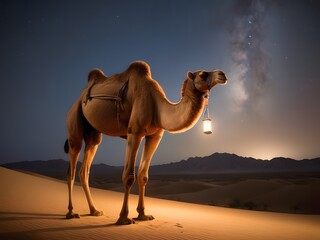
[(139, 203), (137, 207), (137, 211), (139, 213), (138, 217), (135, 220), (138, 221), (147, 221), (153, 220), (154, 217), (152, 215), (146, 215), (144, 212), (144, 195), (145, 195), (145, 188), (149, 180), (149, 166), (152, 159), (153, 154), (158, 148), (158, 145), (161, 141), (163, 135), (163, 131), (159, 131), (155, 135), (146, 137), (145, 146), (142, 153), (142, 158), (139, 166), (138, 172), (138, 181), (139, 181)]

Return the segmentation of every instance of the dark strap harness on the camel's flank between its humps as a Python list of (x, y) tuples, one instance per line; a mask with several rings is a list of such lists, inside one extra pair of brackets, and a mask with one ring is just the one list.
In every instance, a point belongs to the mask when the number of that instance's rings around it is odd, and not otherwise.
[(96, 81), (91, 84), (91, 86), (88, 89), (88, 92), (86, 94), (85, 100), (83, 103), (86, 105), (87, 102), (91, 99), (101, 99), (101, 100), (113, 100), (115, 101), (116, 107), (117, 107), (117, 121), (118, 125), (120, 125), (120, 107), (122, 105), (123, 95), (124, 91), (126, 90), (128, 86), (129, 79), (125, 81), (125, 83), (122, 85), (122, 87), (119, 89), (118, 95), (105, 95), (105, 94), (91, 94), (92, 87), (96, 84)]

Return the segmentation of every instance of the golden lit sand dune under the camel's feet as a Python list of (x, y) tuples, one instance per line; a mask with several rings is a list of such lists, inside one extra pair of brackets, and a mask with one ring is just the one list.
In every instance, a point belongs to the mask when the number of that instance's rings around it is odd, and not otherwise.
[[(0, 168), (0, 239), (320, 239), (320, 215), (228, 209), (156, 198), (146, 199), (146, 213), (155, 220), (114, 225), (123, 195), (92, 189), (98, 209), (88, 215), (85, 195), (74, 189), (80, 219), (66, 220), (67, 185), (50, 178)], [(130, 196), (130, 217), (136, 217), (137, 196)]]

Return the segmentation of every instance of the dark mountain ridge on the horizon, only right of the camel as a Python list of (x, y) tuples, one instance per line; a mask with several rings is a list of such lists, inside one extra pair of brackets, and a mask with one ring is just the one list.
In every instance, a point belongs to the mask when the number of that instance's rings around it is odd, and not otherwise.
[(157, 174), (320, 172), (320, 158), (260, 160), (229, 153), (214, 153), (206, 157), (193, 157), (180, 162), (153, 166), (150, 172)]

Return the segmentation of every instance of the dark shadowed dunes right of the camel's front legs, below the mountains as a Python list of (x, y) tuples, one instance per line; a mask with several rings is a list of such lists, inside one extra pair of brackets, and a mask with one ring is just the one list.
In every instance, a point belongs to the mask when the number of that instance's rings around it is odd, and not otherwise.
[(232, 180), (220, 184), (199, 180), (151, 181), (147, 193), (157, 198), (214, 206), (320, 214), (318, 189), (319, 178), (304, 177)]

